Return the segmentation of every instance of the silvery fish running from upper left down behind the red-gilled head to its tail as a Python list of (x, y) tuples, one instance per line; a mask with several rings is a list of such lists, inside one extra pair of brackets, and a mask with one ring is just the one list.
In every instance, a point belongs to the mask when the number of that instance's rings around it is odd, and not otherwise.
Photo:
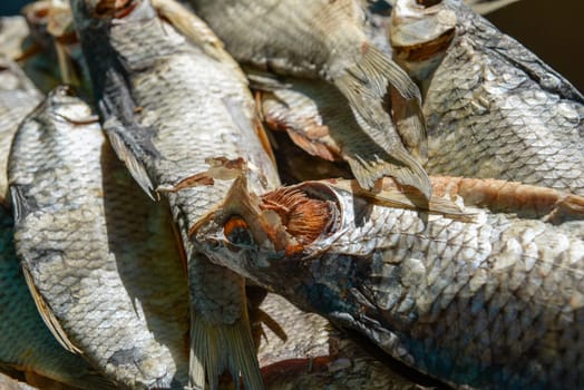
[(214, 389), (228, 370), (236, 381), (241, 373), (247, 389), (261, 388), (245, 280), (208, 262), (187, 235), (224, 199), (234, 177), (208, 185), (206, 170), (228, 172), (221, 165), (243, 159), (255, 191), (279, 184), (245, 77), (213, 32), (181, 6), (156, 2), (165, 18), (146, 1), (130, 1), (125, 10), (110, 6), (75, 1), (75, 22), (114, 147), (146, 192), (167, 195), (183, 237), (192, 300), (191, 386), (203, 388), (206, 373)]

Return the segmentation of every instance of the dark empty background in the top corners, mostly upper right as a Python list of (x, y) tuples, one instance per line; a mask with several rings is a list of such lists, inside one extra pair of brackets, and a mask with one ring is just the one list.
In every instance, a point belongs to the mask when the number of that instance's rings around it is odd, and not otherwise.
[[(0, 16), (27, 0), (0, 0)], [(487, 18), (584, 91), (584, 1), (520, 0)]]

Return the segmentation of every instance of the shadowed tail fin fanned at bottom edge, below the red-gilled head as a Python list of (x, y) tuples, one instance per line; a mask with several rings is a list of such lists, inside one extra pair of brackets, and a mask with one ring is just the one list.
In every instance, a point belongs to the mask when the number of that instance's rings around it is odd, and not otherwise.
[(205, 321), (203, 315), (193, 315), (191, 340), (193, 389), (205, 389), (205, 373), (210, 388), (217, 389), (218, 377), (225, 370), (235, 383), (243, 381), (246, 390), (264, 388), (247, 315), (231, 324), (214, 324)]

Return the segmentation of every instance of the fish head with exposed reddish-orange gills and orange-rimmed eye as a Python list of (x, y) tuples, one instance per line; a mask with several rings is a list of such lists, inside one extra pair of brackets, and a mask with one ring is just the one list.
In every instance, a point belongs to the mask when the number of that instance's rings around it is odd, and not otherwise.
[(305, 182), (256, 196), (241, 176), (191, 237), (214, 263), (269, 286), (324, 251), (340, 223), (340, 204), (325, 184)]

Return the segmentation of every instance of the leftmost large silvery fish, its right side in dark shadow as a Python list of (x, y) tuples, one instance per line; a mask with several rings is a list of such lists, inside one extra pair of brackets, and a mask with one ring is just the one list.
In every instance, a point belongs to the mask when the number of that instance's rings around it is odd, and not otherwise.
[(172, 216), (152, 204), (67, 87), (11, 149), (14, 244), (45, 322), (120, 387), (182, 389), (187, 280)]

